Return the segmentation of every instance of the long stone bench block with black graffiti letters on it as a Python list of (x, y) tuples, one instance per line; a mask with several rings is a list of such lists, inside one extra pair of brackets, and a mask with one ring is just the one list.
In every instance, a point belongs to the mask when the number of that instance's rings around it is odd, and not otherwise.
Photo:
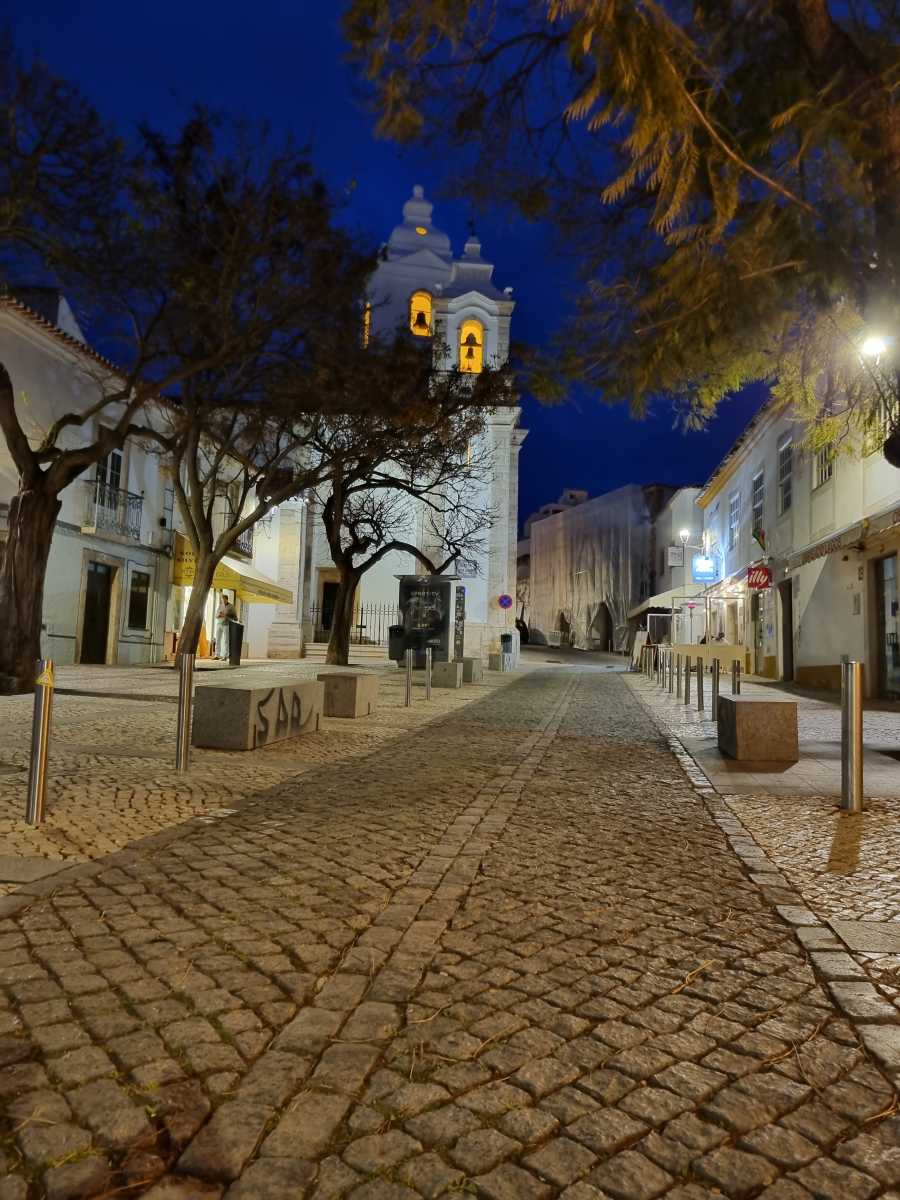
[(274, 688), (200, 686), (194, 689), (192, 742), (210, 750), (258, 750), (317, 732), (324, 703), (324, 684), (316, 679)]

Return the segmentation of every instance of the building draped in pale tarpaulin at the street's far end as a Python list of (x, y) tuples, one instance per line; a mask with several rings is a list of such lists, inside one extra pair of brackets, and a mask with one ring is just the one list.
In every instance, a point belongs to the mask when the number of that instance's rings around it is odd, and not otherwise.
[(673, 491), (630, 484), (532, 526), (533, 641), (626, 649), (628, 614), (650, 594), (653, 518)]

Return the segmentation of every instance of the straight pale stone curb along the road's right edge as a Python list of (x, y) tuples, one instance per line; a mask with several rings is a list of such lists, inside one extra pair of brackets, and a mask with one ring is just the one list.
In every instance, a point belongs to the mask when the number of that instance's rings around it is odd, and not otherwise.
[(844, 942), (838, 938), (830, 925), (820, 920), (805, 906), (803, 898), (791, 887), (750, 830), (732, 811), (727, 799), (713, 786), (680, 738), (664, 726), (641, 689), (636, 688), (628, 676), (625, 679), (632, 695), (640, 700), (666, 739), (697, 797), (746, 868), (750, 882), (791, 926), (823, 990), (853, 1026), (882, 1074), (895, 1088), (900, 1088), (900, 1012), (870, 982), (869, 976), (846, 952)]

